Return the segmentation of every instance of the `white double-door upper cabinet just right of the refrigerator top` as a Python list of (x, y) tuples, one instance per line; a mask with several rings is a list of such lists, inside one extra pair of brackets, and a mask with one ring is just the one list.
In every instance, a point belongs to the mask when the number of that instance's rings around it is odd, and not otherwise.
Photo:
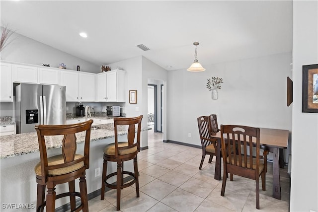
[(95, 101), (95, 74), (61, 71), (60, 85), (66, 86), (66, 101)]

